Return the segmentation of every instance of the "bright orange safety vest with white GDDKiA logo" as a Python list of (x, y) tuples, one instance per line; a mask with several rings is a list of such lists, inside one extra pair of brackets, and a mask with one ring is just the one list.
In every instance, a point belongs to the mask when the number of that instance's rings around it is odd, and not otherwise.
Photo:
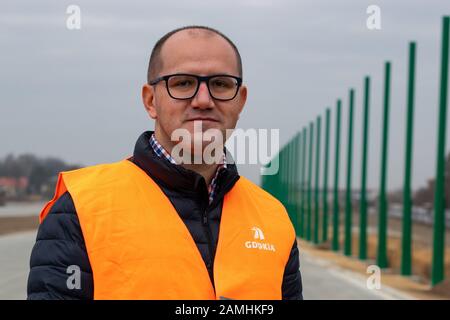
[(128, 160), (62, 172), (40, 214), (68, 191), (83, 232), (94, 299), (281, 299), (295, 232), (283, 205), (244, 177), (225, 195), (213, 287), (184, 222)]

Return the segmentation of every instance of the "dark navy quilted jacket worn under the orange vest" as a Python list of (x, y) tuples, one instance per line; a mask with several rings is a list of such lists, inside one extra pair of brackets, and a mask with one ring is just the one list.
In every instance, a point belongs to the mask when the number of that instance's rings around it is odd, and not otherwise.
[[(223, 197), (239, 179), (234, 164), (228, 164), (217, 178), (214, 200), (209, 204), (204, 178), (191, 170), (159, 158), (149, 144), (151, 131), (136, 142), (132, 161), (160, 186), (172, 202), (194, 239), (214, 285), (213, 263), (219, 233)], [(175, 263), (175, 262), (174, 262)], [(80, 289), (69, 289), (68, 266), (81, 270)], [(68, 192), (53, 205), (39, 227), (30, 259), (28, 299), (92, 299), (92, 269), (80, 222)], [(155, 288), (157, 290), (157, 288)], [(283, 299), (302, 299), (297, 242), (292, 244), (282, 284)]]

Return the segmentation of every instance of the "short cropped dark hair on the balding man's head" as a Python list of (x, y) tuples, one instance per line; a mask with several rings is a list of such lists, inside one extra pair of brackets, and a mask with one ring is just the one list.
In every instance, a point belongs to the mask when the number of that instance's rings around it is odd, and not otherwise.
[(192, 29), (200, 29), (200, 30), (204, 30), (204, 31), (209, 31), (209, 32), (214, 33), (218, 36), (221, 36), (223, 39), (225, 39), (231, 45), (231, 47), (233, 48), (233, 50), (236, 54), (238, 73), (239, 73), (239, 77), (242, 78), (242, 59), (241, 59), (241, 55), (239, 54), (239, 50), (237, 49), (237, 47), (233, 43), (233, 41), (231, 41), (222, 32), (220, 32), (214, 28), (210, 28), (210, 27), (206, 27), (206, 26), (191, 25), (191, 26), (185, 26), (185, 27), (174, 29), (174, 30), (166, 33), (161, 39), (159, 39), (156, 42), (155, 46), (153, 47), (152, 53), (150, 55), (150, 61), (148, 63), (147, 83), (150, 83), (150, 81), (153, 80), (158, 75), (158, 72), (160, 71), (160, 69), (162, 67), (163, 61), (161, 59), (161, 49), (162, 49), (164, 43), (167, 41), (167, 39), (169, 39), (172, 35), (174, 35), (175, 33), (179, 32), (179, 31), (192, 30)]

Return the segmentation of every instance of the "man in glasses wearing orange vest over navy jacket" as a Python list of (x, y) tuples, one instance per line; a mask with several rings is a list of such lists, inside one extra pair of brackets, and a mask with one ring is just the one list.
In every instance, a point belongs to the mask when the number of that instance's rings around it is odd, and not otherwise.
[(176, 130), (195, 135), (200, 123), (226, 139), (235, 128), (247, 98), (236, 46), (208, 27), (169, 32), (142, 98), (155, 131), (132, 157), (60, 174), (40, 215), (28, 299), (302, 299), (280, 202), (240, 177), (223, 145), (212, 164), (173, 152)]

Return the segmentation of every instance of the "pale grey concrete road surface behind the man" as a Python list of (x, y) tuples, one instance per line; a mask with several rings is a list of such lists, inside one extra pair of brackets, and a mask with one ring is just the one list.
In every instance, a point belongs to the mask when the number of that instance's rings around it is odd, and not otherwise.
[[(0, 299), (26, 298), (29, 258), (35, 238), (35, 231), (0, 237)], [(300, 261), (305, 299), (409, 298), (385, 287), (369, 290), (362, 275), (339, 269), (305, 253), (301, 253)]]

